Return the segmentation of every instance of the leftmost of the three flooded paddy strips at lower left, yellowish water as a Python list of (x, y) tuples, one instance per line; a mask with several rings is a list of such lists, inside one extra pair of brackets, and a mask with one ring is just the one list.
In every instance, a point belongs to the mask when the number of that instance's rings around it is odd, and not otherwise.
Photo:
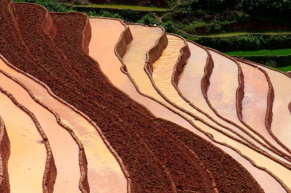
[[(2, 61), (0, 61), (2, 62)], [(0, 86), (3, 87), (0, 81)], [(32, 119), (0, 93), (0, 115), (11, 145), (8, 173), (11, 193), (42, 193), (47, 149)]]

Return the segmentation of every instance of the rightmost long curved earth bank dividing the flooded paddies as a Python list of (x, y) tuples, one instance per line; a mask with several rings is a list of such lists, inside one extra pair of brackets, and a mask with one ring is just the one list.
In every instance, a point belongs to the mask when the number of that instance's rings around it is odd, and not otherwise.
[[(270, 133), (270, 135), (275, 139), (275, 141), (281, 145), (284, 149), (286, 149), (288, 152), (291, 153), (291, 150), (286, 146), (284, 145), (273, 133), (272, 129), (271, 129), (271, 124), (272, 124), (272, 117), (273, 117), (273, 112), (272, 112), (272, 109), (273, 109), (273, 102), (274, 102), (274, 98), (275, 98), (275, 91), (274, 91), (274, 87), (272, 85), (272, 82), (271, 82), (271, 79), (268, 75), (268, 73), (260, 68), (258, 65), (256, 65), (255, 63), (250, 63), (248, 61), (241, 61), (241, 60), (237, 60), (237, 61), (240, 61), (244, 64), (247, 64), (247, 65), (250, 65), (250, 66), (253, 66), (257, 69), (259, 69), (261, 72), (264, 73), (265, 77), (266, 77), (266, 80), (269, 84), (269, 92), (268, 92), (268, 96), (267, 96), (267, 112), (266, 112), (266, 117), (265, 117), (265, 126), (266, 126), (266, 129), (268, 130), (268, 132)], [(265, 67), (265, 66), (264, 66)], [(269, 69), (272, 69), (272, 68), (269, 68)], [(277, 70), (275, 70), (277, 71)], [(280, 71), (277, 71), (277, 72), (280, 72)], [(282, 73), (284, 74), (285, 76), (287, 76), (288, 78), (291, 78), (289, 75), (287, 75), (286, 73)], [(288, 108), (289, 108), (289, 111), (291, 112), (291, 103), (289, 103), (288, 105)]]

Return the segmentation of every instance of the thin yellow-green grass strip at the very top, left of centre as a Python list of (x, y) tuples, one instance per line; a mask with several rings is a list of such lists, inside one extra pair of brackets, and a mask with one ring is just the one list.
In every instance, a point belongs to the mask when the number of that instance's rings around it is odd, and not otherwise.
[(110, 5), (110, 4), (92, 4), (92, 5), (77, 5), (83, 7), (100, 7), (100, 8), (118, 8), (118, 9), (134, 9), (134, 10), (167, 10), (161, 7), (144, 7), (137, 5)]

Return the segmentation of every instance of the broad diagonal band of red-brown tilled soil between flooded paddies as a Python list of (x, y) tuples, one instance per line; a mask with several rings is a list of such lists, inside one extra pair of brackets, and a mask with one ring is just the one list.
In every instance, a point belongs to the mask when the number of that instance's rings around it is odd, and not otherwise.
[[(17, 10), (36, 11), (33, 10), (35, 7), (27, 4), (16, 4), (18, 5)], [(41, 10), (37, 11), (42, 13)], [(132, 187), (129, 188), (132, 188), (134, 192), (145, 190), (148, 192), (176, 192), (177, 190), (214, 192), (212, 175), (206, 172), (204, 165), (215, 166), (216, 163), (221, 165), (222, 170), (226, 165), (242, 167), (238, 162), (230, 164), (228, 159), (225, 160), (226, 163), (214, 161), (217, 159), (215, 155), (218, 151), (222, 154), (224, 152), (218, 148), (214, 152), (204, 152), (205, 140), (171, 122), (158, 121), (159, 119), (155, 121), (155, 117), (145, 108), (113, 87), (100, 71), (97, 62), (87, 56), (82, 48), (86, 16), (77, 13), (52, 14), (56, 25), (56, 33), (52, 35), (53, 42), (48, 34), (43, 32), (43, 26), (41, 26), (43, 18), (24, 18), (19, 15), (17, 19), (19, 29), (29, 51), (25, 49), (23, 42), (15, 41), (12, 45), (23, 49), (23, 52), (5, 48), (0, 48), (0, 52), (10, 63), (48, 84), (56, 95), (73, 104), (98, 124), (113, 149), (124, 161), (132, 180)], [(15, 29), (14, 23), (7, 24), (8, 28)], [(85, 33), (87, 35), (90, 34), (88, 28), (86, 31), (88, 33)], [(1, 40), (7, 41), (7, 38), (21, 39), (17, 31), (13, 35), (3, 33)], [(34, 60), (32, 56), (37, 60)], [(25, 57), (28, 60), (18, 63), (18, 59)], [(181, 132), (177, 135), (181, 139), (183, 139), (182, 133), (188, 131), (184, 138), (187, 141), (183, 143), (168, 130), (173, 133)], [(197, 145), (200, 145), (199, 149), (193, 146), (191, 151), (185, 146), (191, 142), (187, 138), (189, 136), (192, 141), (199, 142)], [(207, 146), (210, 149), (213, 148), (210, 144)], [(201, 164), (195, 154), (199, 151), (194, 153), (194, 149), (203, 152), (202, 156), (198, 156), (202, 163), (205, 162), (203, 162), (204, 154), (209, 154), (207, 158), (210, 159), (210, 163)], [(216, 170), (216, 168), (207, 169)], [(234, 183), (232, 174), (226, 175), (228, 171), (243, 176)], [(219, 178), (223, 175), (228, 177), (231, 183), (220, 182), (225, 180), (225, 178)], [(243, 177), (248, 177), (248, 179), (243, 180)], [(231, 189), (236, 188), (236, 185), (241, 186), (238, 188), (246, 189), (246, 192), (262, 192), (258, 183), (245, 169), (240, 172), (234, 169), (224, 170), (222, 175), (215, 176), (215, 182), (223, 184), (217, 185), (220, 187), (220, 192), (232, 192)]]

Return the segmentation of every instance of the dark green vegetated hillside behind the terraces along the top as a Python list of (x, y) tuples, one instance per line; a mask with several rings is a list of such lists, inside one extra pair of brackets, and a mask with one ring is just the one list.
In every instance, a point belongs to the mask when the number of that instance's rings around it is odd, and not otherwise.
[(148, 1), (148, 7), (74, 5), (82, 0), (14, 1), (37, 3), (52, 12), (79, 11), (88, 16), (161, 25), (166, 32), (228, 55), (241, 55), (283, 70), (291, 65), (291, 0), (165, 0), (168, 9), (151, 7), (154, 0)]

